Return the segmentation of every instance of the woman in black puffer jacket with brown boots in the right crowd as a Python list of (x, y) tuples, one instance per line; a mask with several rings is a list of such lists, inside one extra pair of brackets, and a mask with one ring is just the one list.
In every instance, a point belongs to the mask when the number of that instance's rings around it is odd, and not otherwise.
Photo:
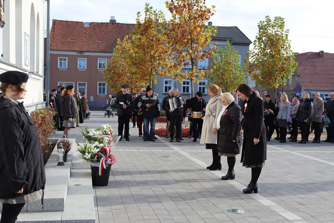
[(303, 99), (300, 99), (300, 104), (297, 111), (296, 120), (299, 122), (300, 133), (302, 140), (298, 143), (306, 143), (310, 134), (310, 122), (313, 109), (313, 98), (310, 98), (309, 93), (303, 95)]

